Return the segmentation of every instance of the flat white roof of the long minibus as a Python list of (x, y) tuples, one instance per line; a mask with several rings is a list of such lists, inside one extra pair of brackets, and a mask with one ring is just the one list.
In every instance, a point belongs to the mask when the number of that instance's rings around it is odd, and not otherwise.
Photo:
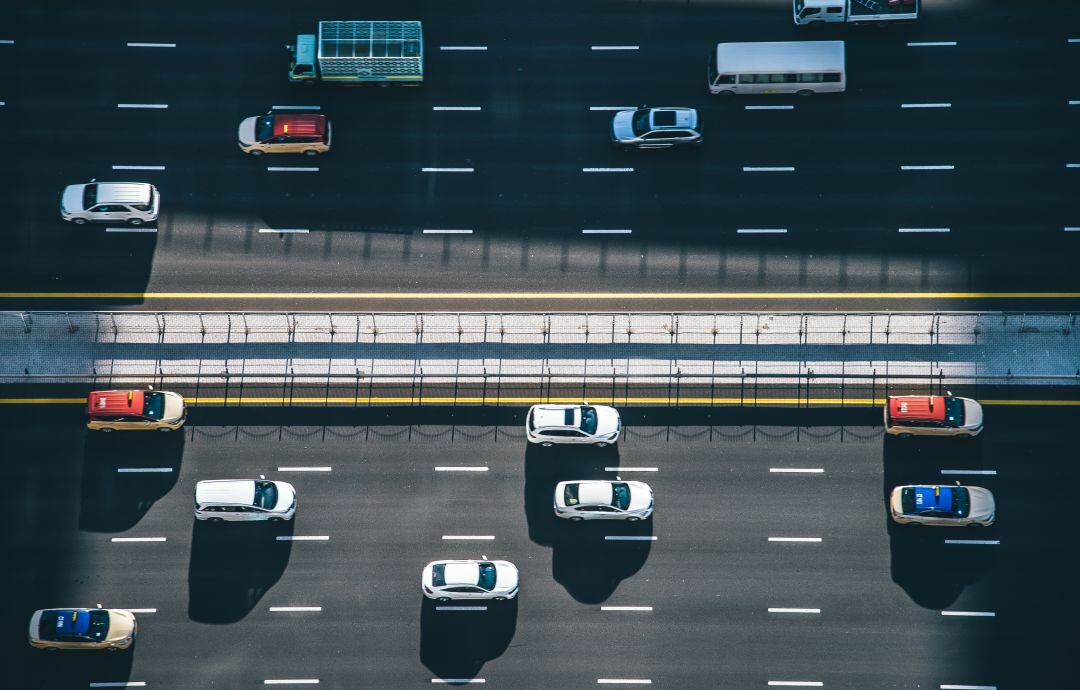
[(843, 71), (843, 41), (717, 43), (717, 73)]

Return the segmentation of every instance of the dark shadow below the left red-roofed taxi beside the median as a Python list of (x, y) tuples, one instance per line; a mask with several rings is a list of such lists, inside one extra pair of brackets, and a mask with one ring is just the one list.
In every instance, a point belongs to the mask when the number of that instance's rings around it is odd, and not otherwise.
[[(79, 528), (120, 532), (134, 527), (180, 474), (183, 431), (89, 432), (82, 451)], [(125, 470), (170, 469), (170, 472)]]

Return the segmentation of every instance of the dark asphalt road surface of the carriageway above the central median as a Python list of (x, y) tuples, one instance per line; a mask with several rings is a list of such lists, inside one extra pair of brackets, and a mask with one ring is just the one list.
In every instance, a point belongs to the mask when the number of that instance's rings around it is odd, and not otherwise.
[[(43, 308), (1067, 308), (1080, 5), (927, 4), (876, 29), (796, 27), (785, 0), (21, 3), (0, 29), (0, 289)], [(297, 32), (390, 15), (424, 23), (422, 86), (287, 82)], [(706, 94), (716, 42), (808, 38), (846, 41), (846, 93)], [(610, 109), (643, 103), (700, 109), (703, 150), (613, 151)], [(333, 150), (243, 155), (239, 122), (273, 106), (320, 108)], [(59, 190), (91, 178), (158, 185), (157, 232), (66, 227)]]

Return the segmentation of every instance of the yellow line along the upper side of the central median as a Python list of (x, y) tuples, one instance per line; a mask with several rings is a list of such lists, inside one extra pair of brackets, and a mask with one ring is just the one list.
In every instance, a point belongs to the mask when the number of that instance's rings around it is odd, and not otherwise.
[(1076, 299), (1080, 293), (0, 293), (0, 299), (368, 299), (368, 300), (708, 300), (708, 299)]

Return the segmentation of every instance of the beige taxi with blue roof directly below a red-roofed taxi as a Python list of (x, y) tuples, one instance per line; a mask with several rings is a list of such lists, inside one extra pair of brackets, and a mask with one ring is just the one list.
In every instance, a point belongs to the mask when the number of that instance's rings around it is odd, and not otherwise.
[(994, 493), (981, 486), (897, 486), (889, 512), (901, 525), (988, 527), (994, 524)]

